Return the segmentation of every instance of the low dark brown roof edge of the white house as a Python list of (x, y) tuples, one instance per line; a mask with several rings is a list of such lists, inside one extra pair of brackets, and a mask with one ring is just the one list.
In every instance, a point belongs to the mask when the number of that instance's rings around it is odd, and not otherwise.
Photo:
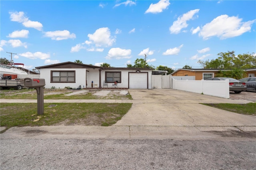
[(99, 67), (95, 65), (87, 65), (87, 64), (80, 64), (80, 63), (74, 63), (71, 61), (64, 62), (64, 63), (58, 63), (58, 64), (51, 64), (51, 65), (45, 65), (36, 67), (36, 69), (47, 69), (47, 68), (59, 68), (59, 69), (66, 69), (66, 68), (86, 68), (86, 69), (127, 69), (127, 70), (152, 70), (151, 68), (133, 68), (133, 67)]

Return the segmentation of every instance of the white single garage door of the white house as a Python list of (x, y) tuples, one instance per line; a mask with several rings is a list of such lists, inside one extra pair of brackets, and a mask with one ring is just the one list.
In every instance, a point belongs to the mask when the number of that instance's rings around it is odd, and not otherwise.
[(148, 89), (148, 73), (129, 73), (129, 89)]

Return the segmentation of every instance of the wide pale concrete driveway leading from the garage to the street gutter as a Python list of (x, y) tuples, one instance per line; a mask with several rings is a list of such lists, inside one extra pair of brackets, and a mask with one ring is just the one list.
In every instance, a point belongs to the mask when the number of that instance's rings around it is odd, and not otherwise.
[(113, 126), (247, 127), (256, 117), (200, 103), (249, 103), (173, 89), (129, 89), (132, 107)]

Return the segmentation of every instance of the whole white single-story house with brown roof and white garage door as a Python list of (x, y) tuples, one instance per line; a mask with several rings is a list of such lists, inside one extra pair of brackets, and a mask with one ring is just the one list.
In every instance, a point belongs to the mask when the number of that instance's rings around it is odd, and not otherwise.
[(92, 88), (92, 85), (103, 88), (104, 81), (108, 83), (108, 87), (118, 81), (120, 88), (151, 89), (152, 69), (149, 68), (98, 67), (68, 61), (36, 69), (40, 69), (40, 78), (45, 79), (46, 89), (78, 86)]

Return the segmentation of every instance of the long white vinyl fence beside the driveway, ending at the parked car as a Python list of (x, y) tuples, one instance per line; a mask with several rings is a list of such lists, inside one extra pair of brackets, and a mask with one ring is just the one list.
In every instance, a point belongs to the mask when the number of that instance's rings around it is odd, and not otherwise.
[(229, 80), (175, 80), (172, 89), (229, 99)]

